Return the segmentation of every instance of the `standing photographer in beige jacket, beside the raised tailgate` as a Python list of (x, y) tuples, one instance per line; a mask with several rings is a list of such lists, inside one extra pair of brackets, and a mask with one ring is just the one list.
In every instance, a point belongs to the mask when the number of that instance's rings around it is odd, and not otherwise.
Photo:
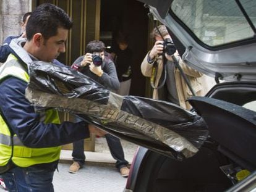
[(203, 94), (202, 82), (199, 80), (203, 73), (188, 67), (182, 61), (164, 25), (155, 27), (151, 32), (151, 38), (155, 39), (155, 44), (145, 56), (141, 70), (145, 77), (150, 77), (153, 99), (173, 102), (190, 109), (191, 106), (186, 99), (192, 96), (192, 92), (174, 61), (181, 67), (197, 96)]

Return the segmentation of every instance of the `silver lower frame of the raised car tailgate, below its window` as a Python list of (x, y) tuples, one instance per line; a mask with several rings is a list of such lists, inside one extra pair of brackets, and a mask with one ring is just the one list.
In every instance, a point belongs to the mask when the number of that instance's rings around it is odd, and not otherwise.
[[(147, 3), (147, 1), (144, 2)], [(148, 3), (154, 5), (153, 1), (148, 1)], [(149, 6), (150, 12), (166, 25), (186, 47), (182, 59), (187, 61), (188, 65), (211, 77), (218, 75), (222, 80), (256, 80), (255, 39), (239, 41), (233, 46), (224, 48), (206, 46), (191, 34), (191, 31), (175, 17), (171, 10), (171, 14), (163, 18), (164, 11), (159, 4), (157, 6), (158, 8)]]

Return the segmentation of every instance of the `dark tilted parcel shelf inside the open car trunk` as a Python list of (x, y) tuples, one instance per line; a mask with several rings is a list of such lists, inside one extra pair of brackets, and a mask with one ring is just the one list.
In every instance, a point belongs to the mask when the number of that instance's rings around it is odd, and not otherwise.
[(213, 98), (194, 97), (189, 102), (207, 123), (218, 150), (244, 169), (255, 170), (256, 112)]

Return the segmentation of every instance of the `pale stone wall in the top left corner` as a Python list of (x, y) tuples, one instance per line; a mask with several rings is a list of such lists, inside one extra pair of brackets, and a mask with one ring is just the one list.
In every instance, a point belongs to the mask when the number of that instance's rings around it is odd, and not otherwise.
[(31, 11), (32, 0), (0, 0), (0, 44), (10, 35), (19, 35), (23, 14)]

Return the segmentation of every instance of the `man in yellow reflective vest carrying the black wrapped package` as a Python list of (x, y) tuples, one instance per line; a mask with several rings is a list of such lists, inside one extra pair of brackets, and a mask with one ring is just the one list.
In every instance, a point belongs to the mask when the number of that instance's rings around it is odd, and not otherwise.
[(60, 123), (58, 112), (36, 112), (25, 98), (32, 61), (52, 62), (65, 52), (72, 27), (53, 4), (41, 4), (28, 20), (27, 41), (11, 41), (12, 54), (0, 68), (0, 174), (9, 191), (54, 191), (53, 173), (61, 145), (100, 130), (85, 122)]

